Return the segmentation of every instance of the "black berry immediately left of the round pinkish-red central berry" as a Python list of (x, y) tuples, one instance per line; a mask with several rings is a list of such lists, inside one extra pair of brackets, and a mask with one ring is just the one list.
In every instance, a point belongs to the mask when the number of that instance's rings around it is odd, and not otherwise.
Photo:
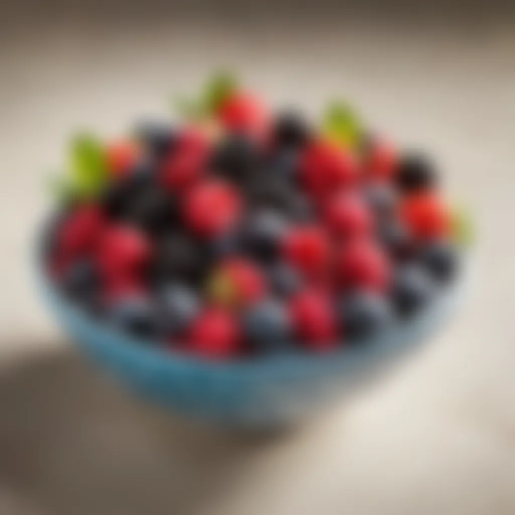
[(159, 234), (177, 224), (177, 201), (158, 186), (147, 187), (135, 195), (127, 217), (143, 230)]

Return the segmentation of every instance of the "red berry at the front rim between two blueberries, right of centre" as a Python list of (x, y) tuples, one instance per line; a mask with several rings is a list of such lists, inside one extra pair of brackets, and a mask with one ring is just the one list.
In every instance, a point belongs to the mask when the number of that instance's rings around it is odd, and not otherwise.
[(290, 301), (294, 330), (304, 344), (324, 351), (336, 344), (336, 320), (330, 299), (315, 291), (304, 291)]

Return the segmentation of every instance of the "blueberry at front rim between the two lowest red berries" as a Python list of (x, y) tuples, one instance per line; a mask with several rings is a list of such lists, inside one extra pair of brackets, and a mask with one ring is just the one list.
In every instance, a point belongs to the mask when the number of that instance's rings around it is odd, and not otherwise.
[(285, 307), (274, 300), (251, 306), (243, 317), (243, 328), (250, 344), (260, 351), (273, 352), (287, 347), (291, 323)]

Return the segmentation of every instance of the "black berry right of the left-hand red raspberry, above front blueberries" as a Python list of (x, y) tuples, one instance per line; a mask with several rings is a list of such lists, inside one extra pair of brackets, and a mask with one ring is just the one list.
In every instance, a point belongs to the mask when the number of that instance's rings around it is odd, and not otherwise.
[(174, 230), (158, 239), (150, 276), (157, 283), (179, 280), (197, 285), (203, 282), (208, 264), (201, 245), (186, 233)]

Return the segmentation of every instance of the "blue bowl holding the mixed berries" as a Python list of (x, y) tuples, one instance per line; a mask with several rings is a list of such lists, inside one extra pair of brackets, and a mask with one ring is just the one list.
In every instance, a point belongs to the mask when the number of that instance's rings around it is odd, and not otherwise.
[(48, 278), (41, 255), (40, 242), (36, 272), (43, 298), (85, 354), (170, 411), (251, 428), (303, 419), (419, 347), (449, 318), (464, 282), (459, 277), (419, 316), (392, 324), (364, 345), (327, 355), (299, 352), (219, 363), (162, 350), (95, 320), (63, 297)]

